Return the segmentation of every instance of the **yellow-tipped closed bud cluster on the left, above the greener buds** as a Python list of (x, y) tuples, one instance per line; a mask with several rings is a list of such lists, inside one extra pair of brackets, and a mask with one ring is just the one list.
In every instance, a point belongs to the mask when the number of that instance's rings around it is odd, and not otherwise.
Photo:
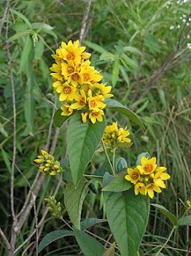
[(44, 150), (42, 150), (41, 153), (42, 154), (38, 156), (37, 159), (34, 159), (34, 162), (40, 165), (38, 170), (41, 173), (49, 173), (51, 176), (62, 173), (62, 167), (58, 161), (54, 160), (54, 156)]

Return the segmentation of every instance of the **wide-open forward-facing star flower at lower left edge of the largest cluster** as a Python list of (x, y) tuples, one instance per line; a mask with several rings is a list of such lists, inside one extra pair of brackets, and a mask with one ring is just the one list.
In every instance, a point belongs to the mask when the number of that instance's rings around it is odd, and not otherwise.
[(62, 86), (57, 87), (56, 91), (60, 93), (59, 100), (64, 101), (64, 100), (74, 100), (74, 95), (76, 92), (76, 88), (73, 86), (70, 86), (69, 83), (63, 83)]

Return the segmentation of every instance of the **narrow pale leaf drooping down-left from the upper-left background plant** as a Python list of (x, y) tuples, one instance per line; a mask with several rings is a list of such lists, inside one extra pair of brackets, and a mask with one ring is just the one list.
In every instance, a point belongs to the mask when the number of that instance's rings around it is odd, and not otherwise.
[(25, 41), (25, 46), (22, 51), (19, 72), (26, 71), (26, 68), (28, 67), (28, 65), (26, 63), (28, 62), (30, 51), (32, 50), (32, 47), (33, 47), (32, 40), (30, 39), (30, 36), (27, 35), (26, 41)]

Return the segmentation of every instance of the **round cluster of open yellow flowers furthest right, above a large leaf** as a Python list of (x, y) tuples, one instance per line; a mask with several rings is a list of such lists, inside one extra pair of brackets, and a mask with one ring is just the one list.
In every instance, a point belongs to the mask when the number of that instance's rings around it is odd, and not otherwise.
[(161, 193), (161, 189), (165, 189), (165, 180), (170, 178), (168, 173), (165, 173), (165, 167), (158, 167), (156, 157), (149, 159), (145, 156), (141, 158), (141, 165), (136, 168), (127, 169), (125, 179), (134, 185), (134, 193), (137, 195), (149, 194), (150, 198), (154, 197), (154, 191)]

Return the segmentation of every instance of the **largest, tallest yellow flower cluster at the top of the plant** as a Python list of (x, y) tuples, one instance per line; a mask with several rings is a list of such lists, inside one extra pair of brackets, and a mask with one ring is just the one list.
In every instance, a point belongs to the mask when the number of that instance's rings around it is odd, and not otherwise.
[(79, 47), (79, 41), (68, 44), (62, 42), (61, 47), (52, 55), (55, 62), (50, 70), (54, 83), (53, 87), (59, 94), (59, 100), (65, 101), (62, 116), (71, 116), (74, 111), (82, 111), (82, 122), (86, 123), (87, 116), (94, 124), (102, 121), (104, 100), (112, 97), (109, 94), (111, 86), (100, 83), (102, 75), (90, 65), (90, 53), (86, 47)]

